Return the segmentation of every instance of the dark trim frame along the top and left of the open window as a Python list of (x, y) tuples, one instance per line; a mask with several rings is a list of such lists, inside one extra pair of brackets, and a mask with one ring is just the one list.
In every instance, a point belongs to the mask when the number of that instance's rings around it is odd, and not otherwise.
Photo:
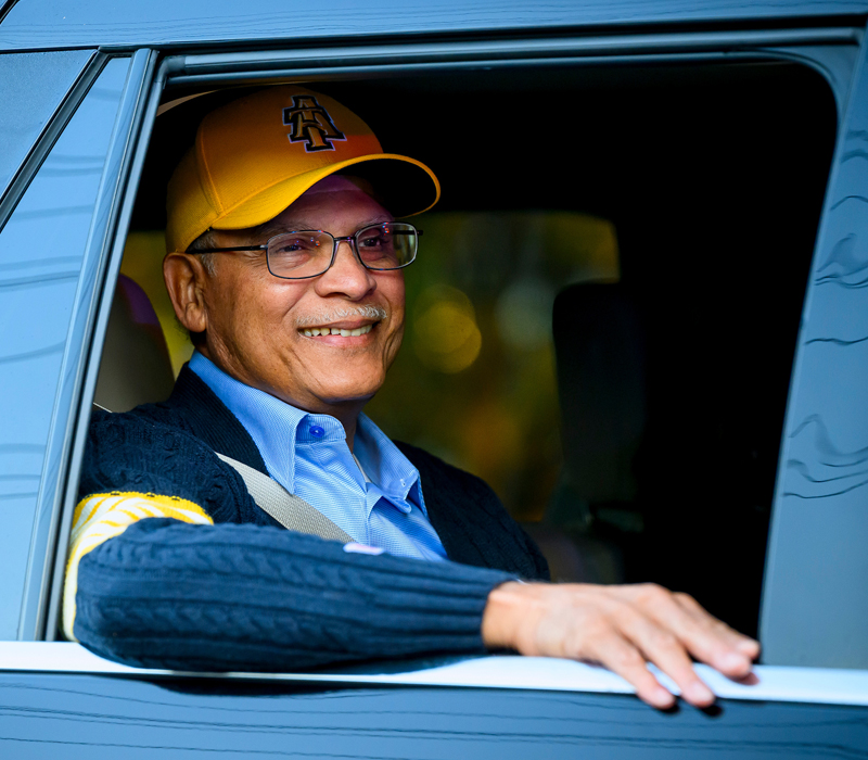
[[(129, 128), (113, 145), (115, 160), (112, 163), (116, 164), (117, 170), (113, 181), (106, 182), (103, 188), (99, 202), (98, 215), (104, 214), (108, 221), (104, 238), (91, 241), (88, 261), (90, 266), (97, 268), (98, 275), (89, 293), (82, 295), (76, 308), (78, 316), (71, 335), (76, 337), (75, 344), (81, 346), (81, 352), (77, 357), (77, 371), (65, 376), (74, 378), (67, 381), (67, 425), (62, 434), (54, 436), (58, 449), (62, 453), (60, 471), (64, 477), (61, 479), (63, 487), (59, 484), (49, 515), (50, 539), (47, 544), (56, 547), (53, 572), (43, 572), (41, 582), (36, 571), (31, 572), (27, 588), (28, 616), (26, 624), (23, 616), (20, 638), (51, 642), (56, 637), (66, 543), (99, 357), (138, 179), (164, 91), (254, 83), (315, 83), (397, 73), (446, 73), (494, 66), (690, 64), (777, 59), (797, 60), (819, 71), (829, 81), (839, 110), (843, 112), (850, 92), (852, 65), (855, 64), (861, 41), (863, 30), (851, 27), (627, 34), (556, 40), (525, 35), (512, 41), (398, 41), (346, 48), (318, 47), (302, 51), (286, 48), (277, 51), (252, 49), (245, 52), (178, 53), (164, 58), (158, 68), (155, 52), (141, 50), (135, 53), (140, 85), (135, 93), (130, 91), (125, 96), (123, 107), (130, 113)], [(850, 56), (840, 54), (842, 47), (851, 50)], [(88, 288), (82, 291), (88, 291)], [(40, 519), (44, 519), (46, 509), (40, 507)], [(47, 552), (47, 567), (50, 559), (51, 552)]]

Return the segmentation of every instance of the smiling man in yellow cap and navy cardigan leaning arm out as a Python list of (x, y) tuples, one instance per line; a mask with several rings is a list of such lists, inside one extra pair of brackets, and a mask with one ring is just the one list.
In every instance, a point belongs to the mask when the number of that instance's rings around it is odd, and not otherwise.
[[(418, 233), (393, 214), (438, 194), (427, 167), (301, 88), (203, 121), (169, 185), (164, 261), (196, 353), (164, 404), (94, 415), (67, 636), (203, 670), (507, 648), (599, 661), (668, 707), (650, 660), (710, 705), (691, 656), (745, 677), (756, 642), (656, 586), (542, 582), (545, 560), (490, 489), (361, 414), (404, 331)], [(250, 470), (346, 540), (281, 528)]]

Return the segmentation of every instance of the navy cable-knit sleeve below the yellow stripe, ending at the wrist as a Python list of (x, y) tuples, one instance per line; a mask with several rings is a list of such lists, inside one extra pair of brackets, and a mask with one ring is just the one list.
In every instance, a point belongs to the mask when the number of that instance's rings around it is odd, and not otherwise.
[(74, 631), (103, 657), (179, 670), (483, 653), (487, 596), (512, 578), (276, 528), (154, 518), (81, 558)]

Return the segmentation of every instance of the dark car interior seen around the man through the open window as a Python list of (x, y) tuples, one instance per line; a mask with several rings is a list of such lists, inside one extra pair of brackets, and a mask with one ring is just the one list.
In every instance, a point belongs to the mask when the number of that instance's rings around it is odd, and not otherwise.
[[(441, 179), (409, 326), (367, 414), (492, 484), (559, 581), (653, 581), (756, 635), (780, 436), (837, 128), (794, 63), (301, 83)], [(214, 88), (212, 88), (213, 90)], [(165, 185), (201, 116), (167, 89), (95, 403), (165, 398)]]

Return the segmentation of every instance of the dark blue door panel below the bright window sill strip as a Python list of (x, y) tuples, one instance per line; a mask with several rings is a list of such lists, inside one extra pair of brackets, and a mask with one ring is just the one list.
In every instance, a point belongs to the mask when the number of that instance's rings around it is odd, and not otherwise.
[(864, 707), (722, 700), (649, 709), (617, 694), (425, 686), (149, 682), (0, 674), (15, 758), (863, 757)]

